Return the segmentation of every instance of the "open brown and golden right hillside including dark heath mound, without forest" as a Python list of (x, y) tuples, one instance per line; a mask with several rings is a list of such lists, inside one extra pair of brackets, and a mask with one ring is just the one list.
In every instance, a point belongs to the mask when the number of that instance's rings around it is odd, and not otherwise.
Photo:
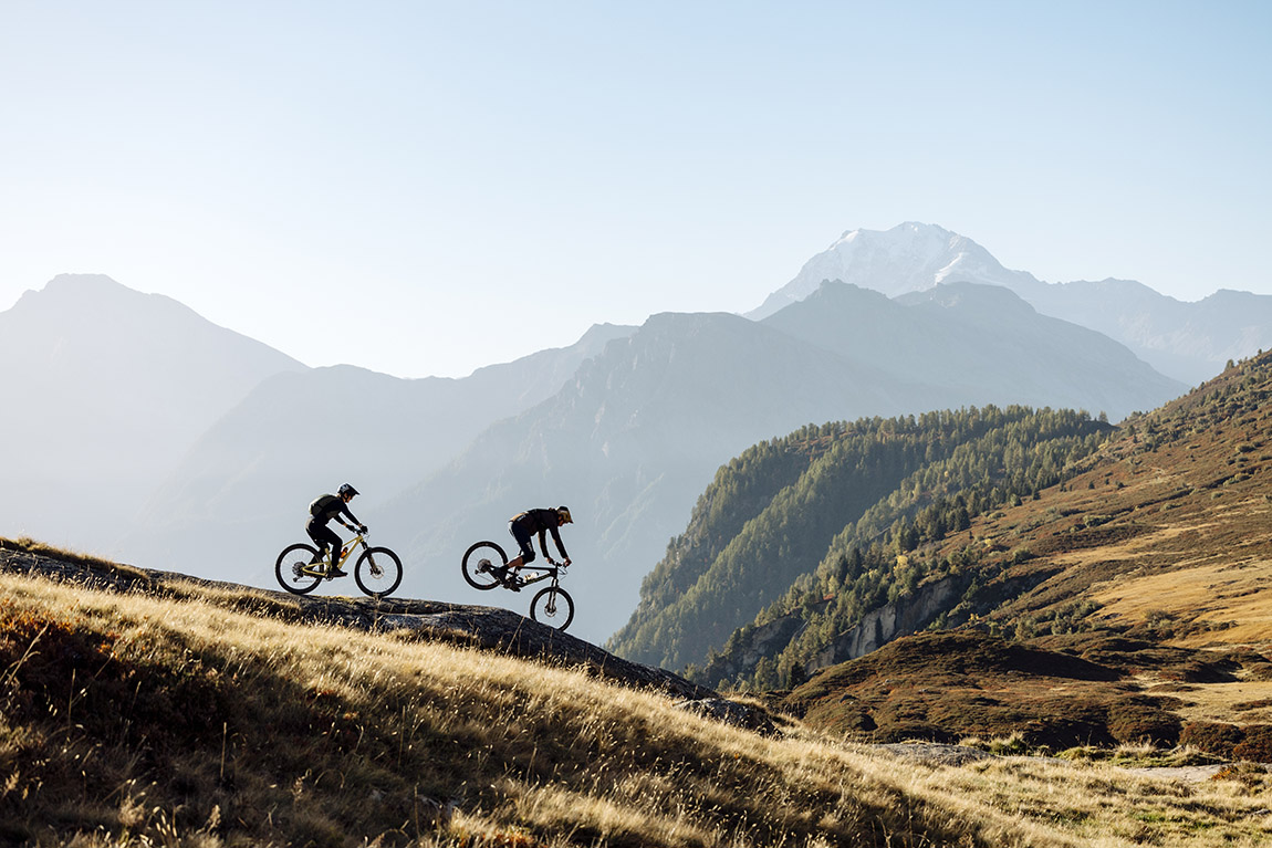
[[(1264, 355), (1124, 425), (1065, 486), (922, 552), (981, 548), (981, 585), (951, 624), (1049, 660), (973, 662), (985, 639), (909, 637), (789, 704), (876, 739), (1015, 728), (1032, 744), (1147, 737), (1272, 760), (1269, 423)], [(949, 674), (945, 652), (968, 667)], [(1053, 674), (1075, 659), (1117, 676)]]

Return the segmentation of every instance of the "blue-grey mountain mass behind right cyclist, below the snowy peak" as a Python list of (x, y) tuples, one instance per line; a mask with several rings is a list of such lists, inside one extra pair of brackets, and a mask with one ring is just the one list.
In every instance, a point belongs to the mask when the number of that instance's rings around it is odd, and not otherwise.
[(576, 622), (602, 636), (635, 609), (647, 563), (716, 468), (758, 440), (809, 422), (983, 403), (1121, 418), (1186, 388), (1011, 292), (960, 286), (941, 295), (906, 305), (831, 285), (759, 323), (651, 318), (393, 505), (398, 531), (429, 516), (410, 549), (424, 568), (404, 591), (466, 591), (455, 563), (467, 544), (491, 535), (510, 543), (509, 516), (567, 501), (591, 526), (571, 545), (584, 564), (570, 585), (583, 599), (605, 599), (580, 603)]

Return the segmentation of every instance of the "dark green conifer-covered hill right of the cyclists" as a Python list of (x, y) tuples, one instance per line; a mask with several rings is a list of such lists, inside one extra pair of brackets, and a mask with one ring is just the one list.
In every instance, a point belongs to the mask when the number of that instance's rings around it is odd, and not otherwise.
[(766, 608), (757, 624), (834, 594), (823, 614), (840, 627), (925, 576), (895, 571), (898, 553), (1054, 484), (1110, 430), (1085, 412), (985, 407), (756, 445), (719, 470), (609, 646), (669, 669), (707, 662), (691, 667), (706, 679), (709, 651)]

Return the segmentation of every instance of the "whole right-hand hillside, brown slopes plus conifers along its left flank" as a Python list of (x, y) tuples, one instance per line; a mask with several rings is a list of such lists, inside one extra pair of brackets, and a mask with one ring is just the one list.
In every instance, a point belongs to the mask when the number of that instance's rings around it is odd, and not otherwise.
[(1262, 745), (1272, 353), (1113, 434), (1054, 416), (916, 472), (689, 676), (876, 739)]

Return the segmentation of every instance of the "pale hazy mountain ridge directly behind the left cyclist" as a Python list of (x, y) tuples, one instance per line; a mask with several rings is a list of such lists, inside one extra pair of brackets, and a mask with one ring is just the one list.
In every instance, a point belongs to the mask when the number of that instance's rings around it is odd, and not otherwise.
[[(403, 380), (352, 366), (275, 375), (193, 442), (125, 547), (146, 561), (179, 552), (201, 573), (268, 584), (272, 556), (259, 552), (304, 539), (313, 497), (354, 481), (364, 493), (356, 514), (377, 524), (378, 503), (440, 469), (492, 422), (551, 397), (631, 332), (597, 325), (570, 347), (464, 379)], [(188, 540), (211, 526), (242, 542), (192, 551)]]

